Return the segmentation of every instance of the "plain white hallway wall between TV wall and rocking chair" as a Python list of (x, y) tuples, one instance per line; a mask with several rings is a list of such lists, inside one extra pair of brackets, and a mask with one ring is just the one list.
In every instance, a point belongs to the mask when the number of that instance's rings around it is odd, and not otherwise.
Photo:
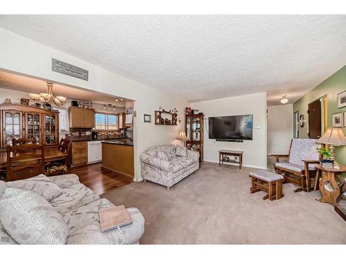
[(268, 106), (268, 155), (288, 154), (293, 137), (293, 104)]

